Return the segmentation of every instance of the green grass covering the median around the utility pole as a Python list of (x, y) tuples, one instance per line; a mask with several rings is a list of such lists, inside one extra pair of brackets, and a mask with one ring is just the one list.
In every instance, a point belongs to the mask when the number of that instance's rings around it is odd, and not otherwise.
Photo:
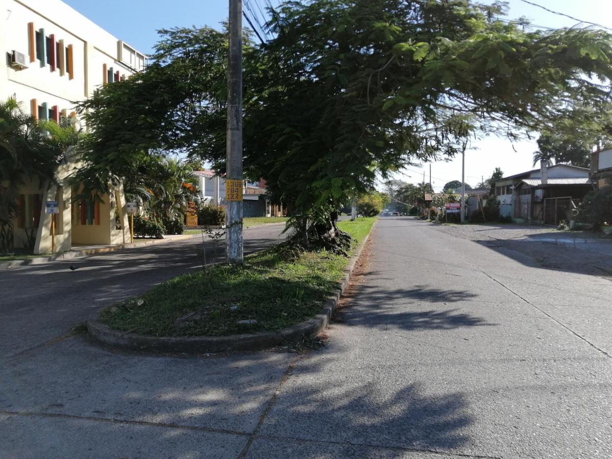
[[(338, 223), (354, 238), (352, 253), (375, 221), (359, 218)], [(273, 246), (245, 257), (244, 266), (222, 264), (168, 280), (143, 296), (106, 308), (100, 319), (114, 329), (157, 336), (282, 329), (321, 310), (348, 261), (326, 251), (296, 253), (286, 246)], [(138, 306), (140, 299), (144, 302)], [(195, 317), (176, 322), (189, 314)], [(248, 319), (258, 323), (236, 323)]]

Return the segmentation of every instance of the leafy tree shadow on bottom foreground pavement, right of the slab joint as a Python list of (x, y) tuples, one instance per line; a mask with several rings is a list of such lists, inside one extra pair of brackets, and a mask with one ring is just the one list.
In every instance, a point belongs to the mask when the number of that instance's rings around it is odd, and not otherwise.
[[(315, 362), (304, 361), (294, 382), (283, 387), (263, 435), (436, 452), (472, 442), (474, 418), (460, 392), (436, 394), (424, 383), (399, 383), (401, 375), (384, 367), (375, 373), (343, 367), (330, 375), (328, 365)], [(316, 380), (319, 374), (328, 375), (324, 383)]]

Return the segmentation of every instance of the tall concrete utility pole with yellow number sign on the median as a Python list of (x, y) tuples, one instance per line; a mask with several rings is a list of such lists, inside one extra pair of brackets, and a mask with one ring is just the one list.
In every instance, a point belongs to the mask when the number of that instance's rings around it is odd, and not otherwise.
[(242, 264), (242, 0), (230, 0), (225, 199), (227, 261)]

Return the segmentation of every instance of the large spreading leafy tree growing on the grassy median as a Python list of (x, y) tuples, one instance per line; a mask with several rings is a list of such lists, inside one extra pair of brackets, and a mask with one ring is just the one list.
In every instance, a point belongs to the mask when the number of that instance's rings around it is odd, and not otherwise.
[[(285, 2), (268, 24), (273, 39), (259, 47), (245, 40), (245, 171), (289, 206), (302, 241), (340, 242), (336, 209), (368, 192), (377, 172), (460, 152), (458, 119), (516, 138), (569, 116), (567, 101), (606, 100), (583, 75), (610, 80), (610, 35), (523, 30), (499, 19), (504, 8)], [(83, 174), (103, 177), (91, 183), (103, 186), (155, 149), (181, 149), (222, 171), (225, 54), (225, 32), (162, 31), (146, 73), (84, 102), (94, 131)]]

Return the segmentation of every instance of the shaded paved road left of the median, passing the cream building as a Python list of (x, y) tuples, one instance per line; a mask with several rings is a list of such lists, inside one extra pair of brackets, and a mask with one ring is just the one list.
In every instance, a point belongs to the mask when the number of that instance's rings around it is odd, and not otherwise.
[[(278, 241), (284, 224), (244, 231), (245, 253)], [(223, 256), (207, 242), (206, 257)], [(0, 355), (14, 355), (66, 334), (95, 310), (137, 295), (151, 286), (200, 269), (203, 241), (195, 236), (176, 242), (130, 248), (10, 269), (0, 269)], [(198, 252), (199, 251), (199, 252)], [(215, 252), (215, 254), (213, 253)], [(69, 266), (78, 267), (70, 271)]]

